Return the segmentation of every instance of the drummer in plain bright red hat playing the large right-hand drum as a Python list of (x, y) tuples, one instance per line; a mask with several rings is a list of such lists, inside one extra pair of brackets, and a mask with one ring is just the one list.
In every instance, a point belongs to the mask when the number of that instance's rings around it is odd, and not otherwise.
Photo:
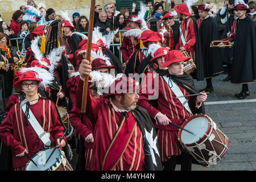
[[(160, 156), (163, 162), (164, 170), (175, 170), (177, 160), (181, 161), (181, 170), (191, 170), (192, 157), (180, 146), (177, 141), (176, 126), (172, 126), (169, 122), (181, 125), (186, 118), (199, 111), (201, 104), (207, 99), (207, 94), (200, 92), (200, 96), (188, 97), (186, 103), (181, 101), (177, 96), (185, 96), (191, 93), (198, 93), (193, 84), (190, 75), (183, 72), (183, 64), (191, 57), (185, 57), (183, 53), (173, 50), (167, 53), (165, 61), (161, 65), (162, 68), (167, 67), (166, 71), (156, 76), (152, 82), (152, 86), (142, 87), (138, 105), (143, 106), (148, 111), (151, 118), (155, 118), (156, 134), (158, 135)], [(157, 86), (154, 86), (154, 85)], [(149, 87), (148, 87), (149, 86)], [(147, 88), (153, 88), (147, 90)], [(158, 89), (158, 90), (157, 90)], [(158, 93), (156, 98), (157, 106), (150, 105), (150, 96)], [(184, 98), (184, 97), (183, 97)], [(199, 109), (198, 109), (199, 108)]]

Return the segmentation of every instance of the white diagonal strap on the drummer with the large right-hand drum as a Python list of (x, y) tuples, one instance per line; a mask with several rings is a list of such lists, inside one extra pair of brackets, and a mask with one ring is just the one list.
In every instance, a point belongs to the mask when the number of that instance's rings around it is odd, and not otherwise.
[(180, 103), (187, 109), (187, 111), (192, 114), (189, 105), (188, 105), (188, 100), (184, 97), (183, 93), (181, 92), (179, 86), (169, 77), (163, 76), (164, 80), (167, 82), (168, 86), (174, 92), (175, 96), (177, 99), (180, 101)]

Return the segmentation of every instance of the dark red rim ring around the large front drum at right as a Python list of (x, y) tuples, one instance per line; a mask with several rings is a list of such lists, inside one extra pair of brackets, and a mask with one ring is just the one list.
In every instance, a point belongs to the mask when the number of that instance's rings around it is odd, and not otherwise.
[[(208, 119), (208, 124), (209, 123), (212, 123), (211, 119), (208, 117), (208, 115), (206, 114), (195, 114), (195, 115), (192, 115), (191, 117), (189, 117), (188, 119), (185, 119), (185, 121), (181, 124), (181, 127), (184, 127), (185, 125), (187, 125), (187, 123), (189, 121), (191, 121), (192, 119), (194, 118), (198, 118), (198, 117), (206, 117)], [(213, 130), (213, 126), (212, 125), (208, 125), (208, 129), (207, 131), (205, 132), (205, 134), (203, 135), (203, 137), (201, 137), (199, 140), (197, 140), (196, 142), (193, 142), (193, 143), (187, 143), (185, 144), (184, 142), (181, 141), (181, 132), (182, 132), (182, 129), (179, 129), (178, 131), (178, 140), (181, 144), (183, 144), (184, 146), (186, 147), (195, 147), (197, 144), (201, 144), (201, 143), (204, 143), (205, 140), (207, 140), (207, 136), (209, 133), (211, 133)]]

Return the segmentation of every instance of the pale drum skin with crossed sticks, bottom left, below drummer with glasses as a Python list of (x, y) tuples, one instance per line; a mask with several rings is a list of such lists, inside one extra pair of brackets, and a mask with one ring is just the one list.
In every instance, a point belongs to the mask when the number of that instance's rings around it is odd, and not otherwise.
[[(53, 168), (56, 169), (59, 167), (59, 164), (61, 163), (60, 160), (62, 159), (61, 150), (59, 148), (53, 152), (51, 158), (49, 158), (48, 162), (46, 163), (46, 160), (54, 148), (55, 147), (45, 148), (44, 150), (39, 151), (38, 154), (34, 155), (32, 160), (38, 164), (39, 168), (37, 168), (34, 163), (29, 161), (26, 165), (26, 171), (47, 171), (49, 169), (53, 170)], [(44, 163), (46, 163), (46, 166), (44, 166)]]

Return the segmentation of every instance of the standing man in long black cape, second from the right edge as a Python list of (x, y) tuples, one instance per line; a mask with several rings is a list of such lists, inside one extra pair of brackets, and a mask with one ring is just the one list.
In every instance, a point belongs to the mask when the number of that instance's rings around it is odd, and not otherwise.
[(199, 27), (201, 38), (201, 49), (204, 62), (204, 78), (207, 81), (207, 86), (200, 90), (205, 92), (213, 92), (212, 78), (223, 72), (221, 51), (216, 47), (210, 47), (213, 40), (218, 40), (218, 27), (213, 17), (209, 16), (208, 4), (199, 5), (198, 13), (200, 18), (196, 20)]

